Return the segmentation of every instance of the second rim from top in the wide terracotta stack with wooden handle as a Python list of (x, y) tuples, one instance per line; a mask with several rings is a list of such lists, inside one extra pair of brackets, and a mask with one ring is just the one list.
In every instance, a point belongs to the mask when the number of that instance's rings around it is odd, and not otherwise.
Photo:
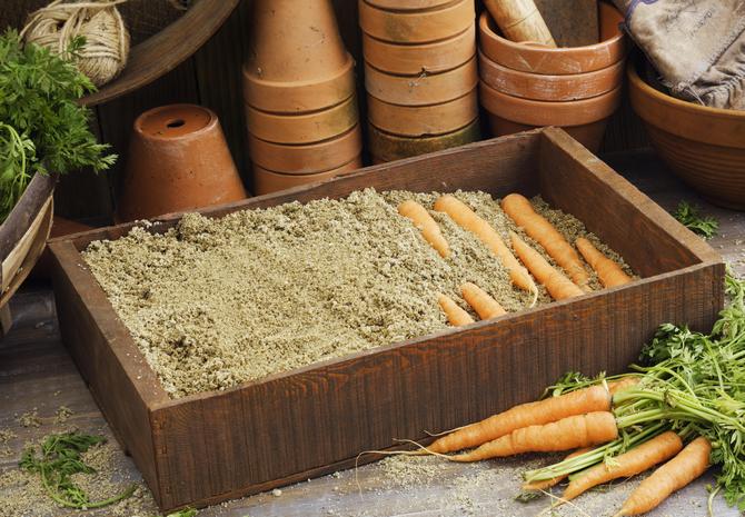
[(624, 79), (623, 60), (593, 72), (545, 76), (503, 67), (479, 52), (478, 68), (481, 80), (495, 90), (524, 99), (546, 101), (597, 97), (617, 88)]

